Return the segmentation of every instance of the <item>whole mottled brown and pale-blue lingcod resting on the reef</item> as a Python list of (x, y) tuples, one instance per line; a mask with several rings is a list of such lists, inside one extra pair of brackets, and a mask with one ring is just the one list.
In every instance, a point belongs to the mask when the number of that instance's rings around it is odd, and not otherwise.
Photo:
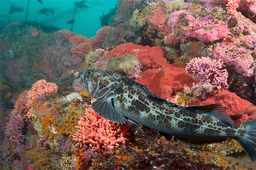
[(97, 101), (92, 109), (105, 119), (133, 124), (170, 134), (190, 146), (234, 138), (256, 160), (256, 119), (234, 126), (220, 103), (184, 107), (150, 92), (148, 87), (119, 73), (84, 70), (78, 74), (83, 89)]

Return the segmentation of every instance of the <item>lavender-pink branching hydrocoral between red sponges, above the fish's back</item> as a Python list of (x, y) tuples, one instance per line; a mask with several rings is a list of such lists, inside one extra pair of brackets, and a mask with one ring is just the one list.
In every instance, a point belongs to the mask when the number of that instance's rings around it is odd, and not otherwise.
[(199, 81), (196, 85), (198, 88), (205, 84), (212, 85), (216, 90), (222, 90), (228, 88), (228, 73), (226, 69), (221, 70), (222, 64), (223, 62), (209, 57), (193, 58), (185, 69)]

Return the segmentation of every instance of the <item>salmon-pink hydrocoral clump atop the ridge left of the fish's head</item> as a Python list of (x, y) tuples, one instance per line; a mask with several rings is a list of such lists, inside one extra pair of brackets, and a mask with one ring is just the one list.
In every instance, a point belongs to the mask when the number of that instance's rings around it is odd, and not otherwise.
[(28, 91), (27, 94), (27, 103), (26, 105), (29, 107), (34, 100), (46, 93), (57, 92), (58, 86), (55, 83), (48, 83), (46, 80), (38, 80), (35, 84), (32, 85), (31, 90)]

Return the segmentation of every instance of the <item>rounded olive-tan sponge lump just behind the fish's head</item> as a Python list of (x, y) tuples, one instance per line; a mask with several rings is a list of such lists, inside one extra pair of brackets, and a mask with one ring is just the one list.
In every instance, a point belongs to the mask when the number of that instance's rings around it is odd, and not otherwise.
[(133, 75), (135, 65), (139, 65), (140, 61), (132, 54), (126, 53), (123, 56), (113, 57), (108, 61), (106, 70), (118, 73)]

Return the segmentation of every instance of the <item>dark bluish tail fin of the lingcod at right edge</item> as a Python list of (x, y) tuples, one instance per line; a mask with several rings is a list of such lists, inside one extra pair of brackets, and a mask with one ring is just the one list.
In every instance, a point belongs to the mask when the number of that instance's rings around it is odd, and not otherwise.
[[(243, 150), (246, 152), (248, 157), (252, 162), (256, 160), (256, 119), (251, 121), (246, 121), (235, 128), (239, 131), (244, 129), (245, 133), (243, 136), (239, 135), (236, 137), (236, 140), (243, 147)], [(239, 132), (238, 132), (239, 133)]]

